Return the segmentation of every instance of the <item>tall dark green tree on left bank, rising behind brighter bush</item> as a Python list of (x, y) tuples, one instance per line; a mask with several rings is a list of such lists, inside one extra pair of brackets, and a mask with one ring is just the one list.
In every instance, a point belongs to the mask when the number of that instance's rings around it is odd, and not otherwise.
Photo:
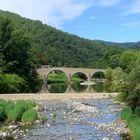
[[(5, 18), (0, 21), (0, 54), (0, 70), (23, 78), (26, 88), (22, 89), (22, 92), (36, 92), (40, 85), (36, 72), (38, 61), (32, 53), (30, 40), (24, 32), (15, 30)], [(7, 92), (10, 92), (10, 89), (7, 88)]]

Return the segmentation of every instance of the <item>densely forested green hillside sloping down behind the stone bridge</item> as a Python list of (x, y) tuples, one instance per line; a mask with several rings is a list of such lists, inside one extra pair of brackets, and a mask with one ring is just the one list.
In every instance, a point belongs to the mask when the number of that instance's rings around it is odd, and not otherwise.
[(14, 13), (0, 11), (0, 16), (10, 19), (30, 38), (40, 64), (105, 68), (112, 55), (123, 51), (116, 45), (83, 39)]

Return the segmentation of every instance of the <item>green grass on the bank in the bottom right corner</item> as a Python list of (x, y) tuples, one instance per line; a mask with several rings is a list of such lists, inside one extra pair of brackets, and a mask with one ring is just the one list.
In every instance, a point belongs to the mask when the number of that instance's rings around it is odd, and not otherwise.
[[(139, 107), (138, 107), (139, 108)], [(132, 140), (140, 140), (140, 116), (139, 109), (133, 114), (130, 107), (126, 106), (122, 109), (121, 117), (127, 122), (128, 128), (132, 134)]]

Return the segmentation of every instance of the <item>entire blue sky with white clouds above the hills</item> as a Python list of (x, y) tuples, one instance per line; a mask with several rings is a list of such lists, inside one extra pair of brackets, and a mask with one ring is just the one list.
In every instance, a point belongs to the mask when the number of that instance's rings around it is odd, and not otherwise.
[(91, 40), (140, 41), (140, 0), (0, 0), (0, 10)]

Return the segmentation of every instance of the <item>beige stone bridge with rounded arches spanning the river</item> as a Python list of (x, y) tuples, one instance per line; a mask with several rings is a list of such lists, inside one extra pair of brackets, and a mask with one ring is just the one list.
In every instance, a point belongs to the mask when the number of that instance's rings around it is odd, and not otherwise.
[(37, 70), (38, 74), (45, 81), (47, 80), (48, 74), (52, 71), (62, 71), (66, 74), (68, 82), (71, 81), (71, 77), (75, 73), (83, 73), (86, 75), (88, 81), (91, 80), (92, 76), (97, 72), (105, 73), (105, 69), (91, 69), (91, 68), (65, 68), (65, 67), (52, 67), (52, 68), (40, 68)]

